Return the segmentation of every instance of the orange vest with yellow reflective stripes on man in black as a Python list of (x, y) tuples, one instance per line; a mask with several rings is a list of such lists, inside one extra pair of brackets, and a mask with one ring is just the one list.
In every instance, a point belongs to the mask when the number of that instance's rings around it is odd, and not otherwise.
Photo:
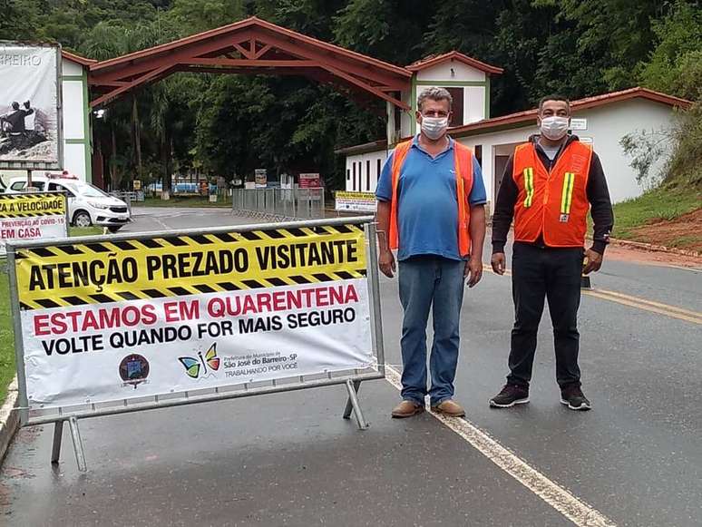
[(514, 205), (514, 240), (549, 247), (583, 247), (588, 229), (588, 174), (592, 148), (570, 142), (551, 171), (543, 166), (533, 142), (514, 151), (512, 179), (519, 195)]

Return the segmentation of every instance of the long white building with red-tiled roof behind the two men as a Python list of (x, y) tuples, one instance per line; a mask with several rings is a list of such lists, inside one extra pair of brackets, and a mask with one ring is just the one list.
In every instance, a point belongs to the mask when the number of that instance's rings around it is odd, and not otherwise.
[[(488, 88), (489, 83), (484, 89)], [(487, 94), (485, 96), (488, 101)], [(477, 94), (473, 93), (473, 97), (477, 98)], [(688, 105), (689, 102), (684, 99), (645, 88), (631, 88), (570, 102), (572, 132), (581, 141), (593, 144), (602, 161), (613, 202), (635, 198), (644, 190), (637, 182), (636, 171), (629, 166), (631, 159), (624, 153), (621, 139), (629, 133), (668, 129), (675, 119), (676, 108)], [(492, 204), (514, 146), (538, 132), (536, 109), (482, 120), (474, 120), (475, 114), (470, 114), (470, 121), (462, 126), (453, 126), (449, 133), (457, 141), (471, 147), (481, 162), (485, 190)], [(415, 132), (414, 127), (403, 127), (404, 137), (410, 137)], [(374, 192), (380, 169), (394, 146), (390, 144), (388, 149), (387, 141), (377, 141), (336, 151), (346, 155), (346, 190)], [(656, 170), (657, 167), (653, 167), (653, 171)]]

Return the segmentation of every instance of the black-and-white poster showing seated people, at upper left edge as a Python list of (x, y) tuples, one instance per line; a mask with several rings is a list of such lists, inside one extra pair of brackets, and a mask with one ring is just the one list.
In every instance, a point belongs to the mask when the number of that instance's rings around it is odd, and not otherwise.
[(0, 168), (61, 168), (60, 63), (58, 45), (0, 42)]

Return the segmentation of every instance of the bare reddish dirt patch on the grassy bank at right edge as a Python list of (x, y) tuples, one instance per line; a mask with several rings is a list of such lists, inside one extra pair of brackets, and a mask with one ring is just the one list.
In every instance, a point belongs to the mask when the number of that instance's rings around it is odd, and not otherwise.
[(634, 239), (653, 245), (702, 252), (702, 208), (675, 220), (651, 221), (643, 227), (632, 229), (631, 234)]

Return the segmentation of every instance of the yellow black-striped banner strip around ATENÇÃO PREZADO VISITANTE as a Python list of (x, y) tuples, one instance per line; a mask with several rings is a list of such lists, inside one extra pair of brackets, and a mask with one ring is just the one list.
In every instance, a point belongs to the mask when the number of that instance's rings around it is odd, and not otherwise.
[[(301, 265), (296, 268), (261, 268), (257, 249), (276, 248), (281, 245), (316, 245), (336, 242), (354, 249), (354, 258), (346, 257), (327, 262), (327, 265)], [(210, 273), (208, 276), (164, 278), (147, 276), (147, 258), (166, 255), (190, 255), (201, 259), (208, 254), (222, 251), (246, 251), (249, 268), (246, 272)], [(120, 268), (130, 259), (137, 269), (138, 278), (130, 282), (112, 281), (97, 286), (77, 283), (81, 280), (72, 274), (71, 266), (94, 265)], [(96, 262), (96, 263), (93, 263)], [(70, 264), (70, 265), (67, 265)], [(366, 277), (366, 244), (363, 227), (356, 224), (301, 227), (291, 229), (265, 229), (242, 232), (203, 233), (190, 236), (160, 236), (152, 239), (125, 239), (99, 241), (78, 245), (50, 246), (35, 249), (18, 249), (15, 255), (18, 296), (22, 309), (71, 307), (149, 298), (183, 297), (202, 293), (237, 291), (241, 289), (276, 288), (352, 278)], [(61, 270), (59, 267), (63, 266)], [(36, 276), (51, 274), (53, 284), (43, 279), (44, 288), (37, 288)], [(62, 275), (59, 280), (59, 274)], [(105, 273), (102, 273), (103, 275)], [(59, 284), (63, 281), (63, 285)], [(90, 280), (89, 280), (90, 281)], [(68, 284), (68, 287), (64, 287)], [(32, 286), (32, 287), (30, 287)]]

